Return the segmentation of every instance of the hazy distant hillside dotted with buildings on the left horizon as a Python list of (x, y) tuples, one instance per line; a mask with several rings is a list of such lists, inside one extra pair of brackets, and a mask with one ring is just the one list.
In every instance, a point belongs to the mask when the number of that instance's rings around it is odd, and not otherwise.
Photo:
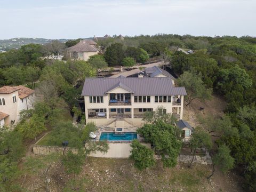
[[(19, 49), (22, 45), (29, 43), (45, 44), (51, 42), (53, 39), (45, 38), (11, 38), (0, 40), (0, 52), (8, 51), (11, 49)], [(60, 42), (65, 43), (68, 39), (58, 39)]]

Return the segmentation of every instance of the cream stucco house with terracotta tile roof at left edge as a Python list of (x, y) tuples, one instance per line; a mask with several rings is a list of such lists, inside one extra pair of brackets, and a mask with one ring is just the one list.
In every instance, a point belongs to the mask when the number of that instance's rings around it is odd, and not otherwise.
[(33, 107), (34, 92), (34, 90), (22, 85), (0, 88), (0, 111), (5, 114), (5, 125), (17, 123), (20, 111)]

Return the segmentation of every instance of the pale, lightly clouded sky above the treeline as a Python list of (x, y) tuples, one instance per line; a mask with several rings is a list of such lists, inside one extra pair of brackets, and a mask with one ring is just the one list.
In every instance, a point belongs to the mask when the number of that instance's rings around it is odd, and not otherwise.
[(256, 36), (256, 0), (0, 0), (0, 39)]

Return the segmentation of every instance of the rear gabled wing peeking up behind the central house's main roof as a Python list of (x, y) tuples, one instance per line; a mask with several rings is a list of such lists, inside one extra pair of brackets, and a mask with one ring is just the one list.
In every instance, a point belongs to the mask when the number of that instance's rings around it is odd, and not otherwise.
[(157, 66), (145, 68), (144, 71), (140, 71), (138, 77), (170, 77), (172, 84), (175, 85), (175, 78), (168, 71)]

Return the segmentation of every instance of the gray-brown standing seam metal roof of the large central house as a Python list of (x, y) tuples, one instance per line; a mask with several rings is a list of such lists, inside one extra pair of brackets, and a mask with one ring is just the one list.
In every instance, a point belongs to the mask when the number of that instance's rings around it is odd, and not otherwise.
[(82, 95), (100, 96), (118, 86), (134, 95), (187, 95), (185, 87), (173, 86), (170, 77), (86, 78)]

